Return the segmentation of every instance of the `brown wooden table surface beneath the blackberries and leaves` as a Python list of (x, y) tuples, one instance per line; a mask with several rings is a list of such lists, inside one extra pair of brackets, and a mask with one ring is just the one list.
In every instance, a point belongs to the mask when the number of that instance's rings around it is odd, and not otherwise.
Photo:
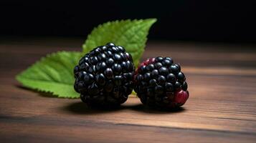
[(172, 56), (190, 97), (161, 112), (131, 97), (120, 109), (89, 109), (24, 89), (14, 76), (41, 56), (80, 50), (81, 39), (0, 40), (0, 142), (256, 142), (256, 49), (253, 45), (149, 41), (143, 59)]

